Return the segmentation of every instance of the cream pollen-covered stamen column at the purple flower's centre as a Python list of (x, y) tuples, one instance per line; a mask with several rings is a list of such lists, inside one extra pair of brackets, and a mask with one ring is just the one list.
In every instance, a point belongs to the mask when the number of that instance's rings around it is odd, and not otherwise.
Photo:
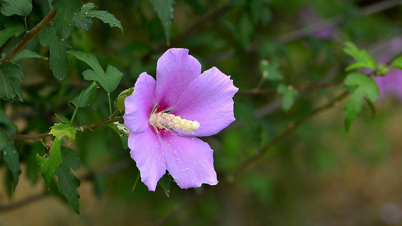
[(168, 114), (166, 112), (156, 112), (153, 110), (149, 117), (149, 124), (155, 129), (156, 133), (159, 130), (181, 130), (185, 134), (193, 134), (194, 130), (199, 129), (197, 121), (182, 119), (180, 116)]

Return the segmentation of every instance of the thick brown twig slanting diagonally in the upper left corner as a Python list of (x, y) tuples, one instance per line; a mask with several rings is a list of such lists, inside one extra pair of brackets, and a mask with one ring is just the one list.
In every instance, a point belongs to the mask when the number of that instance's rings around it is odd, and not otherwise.
[(37, 24), (34, 28), (32, 28), (29, 32), (25, 33), (24, 37), (7, 53), (7, 55), (0, 61), (0, 65), (10, 62), (17, 53), (24, 49), (24, 47), (28, 44), (28, 42), (37, 36), (42, 29), (52, 22), (53, 18), (56, 16), (56, 10), (51, 10), (45, 18), (39, 24)]

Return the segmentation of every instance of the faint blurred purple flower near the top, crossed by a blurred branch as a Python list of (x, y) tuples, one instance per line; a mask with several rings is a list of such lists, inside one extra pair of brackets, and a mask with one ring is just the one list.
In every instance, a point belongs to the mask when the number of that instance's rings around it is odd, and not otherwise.
[[(298, 15), (302, 25), (307, 27), (323, 21), (323, 19), (320, 18), (314, 8), (309, 6), (303, 7), (299, 11)], [(338, 29), (336, 28), (336, 26), (326, 26), (312, 32), (311, 34), (317, 39), (334, 40), (338, 34)]]

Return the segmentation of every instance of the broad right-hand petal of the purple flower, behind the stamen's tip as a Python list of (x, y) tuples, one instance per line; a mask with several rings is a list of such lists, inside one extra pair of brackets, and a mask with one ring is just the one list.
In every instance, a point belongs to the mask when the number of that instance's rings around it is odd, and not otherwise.
[[(235, 121), (233, 96), (238, 90), (230, 76), (213, 67), (204, 71), (186, 87), (170, 114), (199, 123), (199, 129), (190, 136), (217, 134)], [(188, 136), (182, 131), (176, 132)]]

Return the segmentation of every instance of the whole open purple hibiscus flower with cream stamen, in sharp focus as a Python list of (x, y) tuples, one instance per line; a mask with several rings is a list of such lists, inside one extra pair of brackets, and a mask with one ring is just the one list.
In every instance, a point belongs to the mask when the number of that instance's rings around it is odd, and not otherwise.
[(156, 81), (140, 74), (125, 99), (128, 145), (141, 181), (155, 191), (166, 170), (180, 188), (218, 184), (213, 150), (196, 137), (219, 133), (235, 121), (230, 76), (201, 64), (187, 49), (169, 49), (156, 66)]

